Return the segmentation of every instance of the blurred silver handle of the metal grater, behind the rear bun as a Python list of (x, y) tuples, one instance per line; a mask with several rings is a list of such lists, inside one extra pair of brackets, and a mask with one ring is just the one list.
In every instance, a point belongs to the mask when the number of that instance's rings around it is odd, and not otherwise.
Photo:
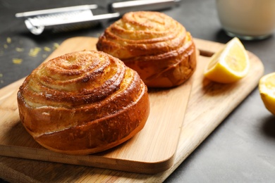
[(111, 11), (124, 14), (129, 11), (157, 11), (170, 8), (181, 0), (137, 0), (122, 1), (111, 4)]

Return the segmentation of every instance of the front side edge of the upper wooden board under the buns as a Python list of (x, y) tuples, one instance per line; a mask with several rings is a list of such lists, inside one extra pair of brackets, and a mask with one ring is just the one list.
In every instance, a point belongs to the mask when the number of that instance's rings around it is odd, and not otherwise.
[[(28, 160), (42, 160), (52, 163), (65, 163), (68, 165), (84, 165), (92, 168), (105, 168), (109, 170), (121, 170), (125, 172), (135, 172), (144, 174), (156, 174), (169, 170), (173, 166), (175, 153), (165, 160), (159, 161), (136, 161), (123, 160), (118, 158), (101, 157), (94, 155), (78, 156), (52, 152), (48, 149), (37, 149), (21, 146), (21, 151), (16, 150), (18, 146), (0, 146), (0, 156), (11, 158), (22, 158)], [(79, 163), (81, 162), (81, 163)]]

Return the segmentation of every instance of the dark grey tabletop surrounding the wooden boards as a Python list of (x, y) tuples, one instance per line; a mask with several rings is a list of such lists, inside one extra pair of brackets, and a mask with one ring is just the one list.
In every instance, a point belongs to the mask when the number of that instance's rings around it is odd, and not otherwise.
[[(80, 4), (98, 4), (94, 13), (106, 13), (111, 1), (0, 0), (0, 89), (28, 75), (56, 43), (76, 36), (98, 37), (112, 20), (92, 29), (35, 36), (15, 13)], [(182, 0), (162, 11), (191, 32), (193, 37), (226, 43), (214, 0)], [(11, 42), (9, 42), (10, 39)], [(245, 48), (264, 63), (264, 73), (275, 72), (275, 38), (243, 41)], [(42, 48), (36, 56), (30, 49)], [(13, 63), (18, 58), (21, 63)], [(17, 60), (18, 61), (18, 60)], [(221, 101), (222, 102), (222, 101)], [(265, 108), (257, 89), (247, 96), (219, 127), (166, 179), (166, 182), (275, 182), (275, 117)]]

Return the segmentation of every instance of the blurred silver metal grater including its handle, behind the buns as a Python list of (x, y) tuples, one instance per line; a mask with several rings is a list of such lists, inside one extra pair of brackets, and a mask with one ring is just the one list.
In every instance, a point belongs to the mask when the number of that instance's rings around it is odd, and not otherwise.
[[(123, 1), (111, 4), (111, 11), (102, 15), (93, 15), (92, 9), (98, 8), (96, 4), (53, 8), (40, 11), (16, 13), (16, 18), (24, 18), (25, 25), (32, 34), (42, 34), (45, 27), (58, 28), (60, 25), (85, 25), (84, 23), (98, 23), (99, 20), (118, 18), (127, 11), (147, 11), (169, 8), (180, 0), (136, 0)], [(85, 26), (84, 26), (85, 27)], [(87, 27), (87, 26), (86, 26)]]

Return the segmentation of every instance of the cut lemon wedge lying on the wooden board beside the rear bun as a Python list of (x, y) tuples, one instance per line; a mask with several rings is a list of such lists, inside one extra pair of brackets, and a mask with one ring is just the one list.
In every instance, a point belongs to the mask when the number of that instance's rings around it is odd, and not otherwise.
[(214, 82), (232, 83), (245, 77), (249, 68), (247, 51), (240, 39), (234, 37), (210, 58), (204, 76)]

